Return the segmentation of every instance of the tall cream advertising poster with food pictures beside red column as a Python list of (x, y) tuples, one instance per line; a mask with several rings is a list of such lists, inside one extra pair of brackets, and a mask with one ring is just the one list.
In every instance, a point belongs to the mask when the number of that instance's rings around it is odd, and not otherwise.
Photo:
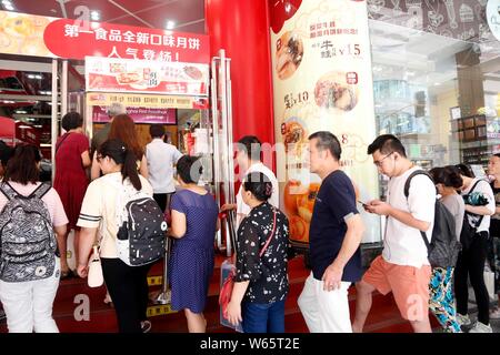
[[(376, 138), (367, 3), (290, 0), (271, 8), (271, 57), (281, 207), (292, 243), (307, 247), (320, 179), (309, 173), (308, 136), (332, 132), (342, 170), (359, 201), (378, 197), (378, 175), (367, 148)], [(380, 240), (380, 219), (358, 205), (363, 242)]]

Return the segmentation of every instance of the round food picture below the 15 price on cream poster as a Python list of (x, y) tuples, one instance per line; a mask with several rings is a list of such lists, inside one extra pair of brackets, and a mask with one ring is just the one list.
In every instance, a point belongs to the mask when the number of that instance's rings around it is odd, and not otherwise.
[(314, 100), (323, 109), (351, 111), (359, 101), (357, 80), (349, 73), (332, 71), (322, 75), (314, 87)]

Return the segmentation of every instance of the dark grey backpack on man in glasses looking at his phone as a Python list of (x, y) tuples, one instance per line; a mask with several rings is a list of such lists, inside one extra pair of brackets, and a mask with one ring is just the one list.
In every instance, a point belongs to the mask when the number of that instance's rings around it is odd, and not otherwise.
[[(411, 179), (416, 175), (426, 175), (433, 182), (432, 178), (423, 170), (412, 172), (404, 183), (404, 196), (407, 199), (410, 191)], [(453, 215), (439, 200), (436, 200), (434, 204), (434, 225), (430, 243), (426, 232), (420, 231), (420, 233), (426, 243), (429, 263), (432, 267), (448, 267), (456, 265), (461, 244), (457, 239)]]

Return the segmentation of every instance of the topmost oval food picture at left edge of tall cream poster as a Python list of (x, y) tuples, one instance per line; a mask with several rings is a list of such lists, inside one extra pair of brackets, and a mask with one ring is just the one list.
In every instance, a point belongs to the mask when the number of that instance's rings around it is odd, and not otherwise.
[(284, 32), (276, 42), (276, 72), (281, 80), (290, 78), (303, 58), (303, 42), (297, 33)]

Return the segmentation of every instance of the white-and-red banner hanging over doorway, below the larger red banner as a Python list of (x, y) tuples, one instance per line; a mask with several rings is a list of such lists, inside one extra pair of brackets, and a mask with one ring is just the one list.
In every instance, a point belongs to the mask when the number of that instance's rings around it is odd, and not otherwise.
[(87, 91), (208, 95), (209, 65), (86, 58)]

